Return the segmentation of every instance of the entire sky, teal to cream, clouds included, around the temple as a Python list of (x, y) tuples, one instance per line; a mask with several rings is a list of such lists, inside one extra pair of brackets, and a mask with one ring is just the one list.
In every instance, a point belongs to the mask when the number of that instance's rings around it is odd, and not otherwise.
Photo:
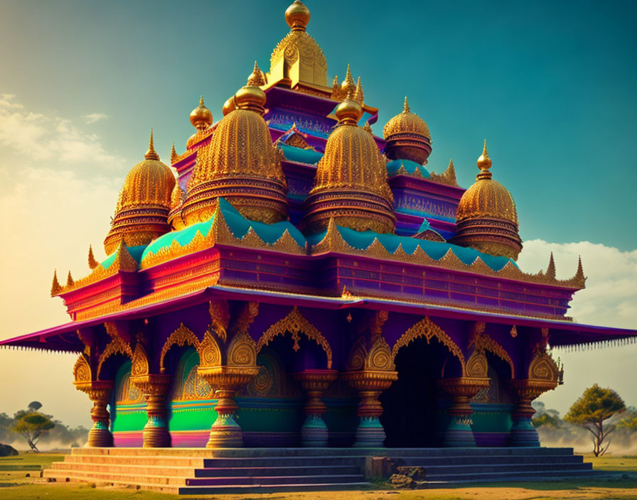
[[(117, 192), (150, 128), (168, 161), (172, 141), (181, 152), (194, 132), (200, 94), (219, 119), (254, 60), (269, 69), (289, 1), (0, 0), (0, 276), (11, 283), (0, 337), (68, 321), (48, 296), (53, 268), (85, 276), (89, 244), (104, 258)], [(328, 81), (352, 65), (380, 108), (377, 134), (407, 95), (432, 131), (427, 168), (453, 156), (464, 187), (487, 138), (493, 176), (518, 205), (520, 266), (546, 268), (553, 251), (569, 278), (581, 254), (589, 281), (574, 317), (637, 328), (636, 3), (307, 5)], [(563, 413), (594, 383), (637, 404), (637, 345), (557, 354), (566, 384), (542, 396), (547, 407)], [(0, 351), (0, 379), (21, 381), (0, 384), (0, 412), (38, 399), (87, 425), (71, 366), (69, 355)]]

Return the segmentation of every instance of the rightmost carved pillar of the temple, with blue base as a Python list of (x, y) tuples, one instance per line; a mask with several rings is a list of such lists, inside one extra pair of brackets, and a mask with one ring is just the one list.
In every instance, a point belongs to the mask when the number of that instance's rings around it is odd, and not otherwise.
[(513, 379), (509, 381), (509, 387), (515, 399), (515, 407), (511, 412), (513, 425), (509, 436), (510, 446), (540, 446), (540, 437), (531, 423), (535, 410), (531, 406), (537, 396), (555, 388), (557, 384), (547, 384), (546, 381), (530, 379)]

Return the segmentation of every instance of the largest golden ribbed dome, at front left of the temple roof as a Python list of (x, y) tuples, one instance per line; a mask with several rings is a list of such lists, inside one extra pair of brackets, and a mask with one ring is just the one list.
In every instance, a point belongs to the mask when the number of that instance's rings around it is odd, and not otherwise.
[(266, 95), (246, 85), (232, 101), (236, 109), (221, 119), (210, 143), (200, 149), (188, 181), (181, 210), (188, 225), (207, 220), (218, 197), (248, 219), (270, 223), (287, 218), (285, 176), (262, 116)]

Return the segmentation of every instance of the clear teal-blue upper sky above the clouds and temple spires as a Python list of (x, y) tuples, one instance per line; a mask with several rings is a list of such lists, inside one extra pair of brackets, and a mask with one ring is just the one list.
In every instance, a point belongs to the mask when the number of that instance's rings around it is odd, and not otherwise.
[[(193, 132), (188, 113), (200, 93), (218, 119), (252, 61), (267, 70), (288, 4), (4, 0), (0, 43), (12, 50), (0, 82), (28, 109), (106, 114), (91, 130), (132, 163), (154, 126), (167, 156)], [(470, 185), (488, 139), (523, 238), (637, 247), (634, 2), (308, 5), (328, 78), (351, 63), (380, 108), (378, 134), (407, 94), (432, 130), (432, 170), (453, 156)]]

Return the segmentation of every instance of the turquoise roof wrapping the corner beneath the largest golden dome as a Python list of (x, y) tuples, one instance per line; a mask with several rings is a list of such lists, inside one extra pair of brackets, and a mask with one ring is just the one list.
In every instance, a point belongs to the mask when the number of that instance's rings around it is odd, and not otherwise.
[[(305, 246), (306, 244), (306, 239), (303, 234), (301, 234), (299, 229), (296, 229), (291, 222), (284, 221), (274, 224), (264, 224), (264, 222), (248, 220), (224, 198), (219, 198), (219, 208), (235, 238), (245, 237), (247, 232), (250, 231), (250, 227), (252, 227), (259, 238), (267, 244), (273, 244), (278, 241), (286, 230), (299, 246)], [(202, 236), (205, 236), (210, 232), (210, 227), (212, 227), (214, 220), (215, 216), (213, 215), (213, 217), (210, 217), (210, 219), (205, 222), (198, 222), (197, 224), (186, 227), (186, 229), (181, 229), (181, 231), (164, 234), (164, 236), (157, 238), (149, 244), (149, 246), (146, 246), (144, 253), (141, 255), (141, 260), (144, 260), (149, 254), (156, 254), (161, 249), (171, 246), (173, 241), (177, 241), (181, 246), (185, 246), (193, 240), (198, 232), (201, 233)]]

